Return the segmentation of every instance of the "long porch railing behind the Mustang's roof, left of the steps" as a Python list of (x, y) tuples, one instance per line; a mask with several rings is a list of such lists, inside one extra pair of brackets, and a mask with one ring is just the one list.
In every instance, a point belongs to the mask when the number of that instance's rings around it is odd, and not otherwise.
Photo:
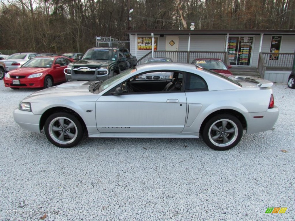
[[(143, 64), (148, 58), (152, 57), (149, 52), (137, 61), (138, 65)], [(202, 51), (154, 51), (154, 57), (168, 57), (174, 62), (191, 63), (195, 58), (218, 58), (226, 65), (229, 65), (228, 54), (226, 52), (202, 52)]]

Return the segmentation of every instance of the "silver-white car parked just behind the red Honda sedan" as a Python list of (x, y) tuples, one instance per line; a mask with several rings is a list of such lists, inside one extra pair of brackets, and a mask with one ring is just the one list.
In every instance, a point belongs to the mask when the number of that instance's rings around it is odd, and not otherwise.
[(41, 56), (36, 53), (16, 53), (10, 55), (6, 59), (1, 60), (1, 62), (5, 63), (6, 65), (6, 72), (17, 69), (21, 67), (24, 63), (28, 60), (31, 60), (34, 57)]

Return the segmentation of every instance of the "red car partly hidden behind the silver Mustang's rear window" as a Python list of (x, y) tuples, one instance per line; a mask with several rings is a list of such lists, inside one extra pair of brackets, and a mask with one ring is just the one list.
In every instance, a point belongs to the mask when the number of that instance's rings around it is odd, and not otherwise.
[(218, 58), (196, 58), (192, 64), (215, 71), (225, 77), (232, 76), (232, 72), (228, 70), (232, 65), (226, 66), (222, 60)]

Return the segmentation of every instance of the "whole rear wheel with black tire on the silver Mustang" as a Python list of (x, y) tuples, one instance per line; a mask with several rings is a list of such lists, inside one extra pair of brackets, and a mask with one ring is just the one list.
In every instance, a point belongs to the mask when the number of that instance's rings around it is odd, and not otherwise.
[[(230, 132), (229, 132), (230, 131)], [(241, 122), (230, 114), (220, 114), (206, 122), (203, 130), (204, 142), (214, 150), (229, 150), (236, 146), (243, 135)]]

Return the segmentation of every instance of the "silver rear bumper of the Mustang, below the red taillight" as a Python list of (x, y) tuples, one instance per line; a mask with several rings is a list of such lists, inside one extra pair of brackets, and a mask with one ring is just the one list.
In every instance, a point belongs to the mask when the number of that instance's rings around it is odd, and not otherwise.
[(268, 109), (266, 112), (244, 113), (247, 121), (246, 134), (259, 133), (273, 130), (273, 126), (278, 120), (279, 109), (277, 106)]

